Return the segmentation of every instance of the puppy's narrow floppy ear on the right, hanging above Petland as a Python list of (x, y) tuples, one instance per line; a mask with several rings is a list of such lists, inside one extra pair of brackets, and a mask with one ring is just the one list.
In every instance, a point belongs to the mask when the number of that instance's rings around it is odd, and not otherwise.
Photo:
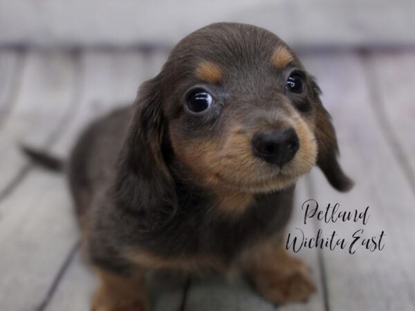
[(320, 100), (320, 88), (313, 82), (317, 110), (315, 113), (315, 135), (317, 138), (317, 165), (323, 171), (330, 184), (339, 191), (348, 191), (353, 187), (353, 181), (344, 174), (338, 162), (339, 148), (331, 116), (324, 109)]

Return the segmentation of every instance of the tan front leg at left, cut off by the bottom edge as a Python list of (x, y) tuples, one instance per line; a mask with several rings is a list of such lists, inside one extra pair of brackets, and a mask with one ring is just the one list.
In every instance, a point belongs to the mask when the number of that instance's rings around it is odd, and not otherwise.
[(98, 268), (100, 285), (93, 295), (92, 311), (148, 311), (142, 271), (120, 276)]

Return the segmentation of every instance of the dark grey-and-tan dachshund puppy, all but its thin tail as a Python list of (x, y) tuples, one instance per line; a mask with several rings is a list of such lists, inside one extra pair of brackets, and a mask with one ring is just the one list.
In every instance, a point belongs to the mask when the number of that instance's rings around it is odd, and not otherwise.
[(153, 269), (234, 268), (273, 303), (314, 291), (286, 254), (297, 178), (317, 164), (340, 191), (338, 144), (320, 89), (276, 35), (214, 23), (181, 40), (133, 106), (89, 126), (68, 177), (94, 311), (149, 310)]

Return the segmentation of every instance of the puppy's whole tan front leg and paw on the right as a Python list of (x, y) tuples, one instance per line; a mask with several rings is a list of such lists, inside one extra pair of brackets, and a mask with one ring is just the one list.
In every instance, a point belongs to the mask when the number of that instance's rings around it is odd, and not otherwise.
[(264, 243), (243, 256), (243, 269), (259, 294), (272, 303), (306, 301), (315, 285), (309, 267), (282, 243)]

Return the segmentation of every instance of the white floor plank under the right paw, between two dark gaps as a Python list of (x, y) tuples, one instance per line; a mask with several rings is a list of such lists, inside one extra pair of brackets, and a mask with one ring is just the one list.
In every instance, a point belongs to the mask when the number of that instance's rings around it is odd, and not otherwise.
[[(306, 234), (315, 233), (313, 224), (305, 227), (302, 225), (303, 214), (301, 210), (302, 202), (308, 200), (309, 194), (306, 191), (306, 182), (304, 178), (299, 180), (295, 192), (295, 204), (293, 208), (293, 218), (287, 227), (288, 232), (295, 232), (296, 227), (300, 227)], [(293, 256), (299, 256), (313, 270), (313, 279), (317, 285), (317, 293), (306, 303), (291, 303), (284, 305), (278, 310), (296, 311), (296, 310), (324, 310), (324, 299), (322, 284), (320, 282), (322, 276), (320, 272), (320, 264), (316, 249), (304, 250)], [(240, 278), (234, 281), (226, 282), (223, 279), (196, 279), (192, 282), (188, 292), (185, 305), (186, 311), (204, 311), (204, 310), (277, 310), (277, 308), (265, 301), (257, 294), (246, 281)]]

